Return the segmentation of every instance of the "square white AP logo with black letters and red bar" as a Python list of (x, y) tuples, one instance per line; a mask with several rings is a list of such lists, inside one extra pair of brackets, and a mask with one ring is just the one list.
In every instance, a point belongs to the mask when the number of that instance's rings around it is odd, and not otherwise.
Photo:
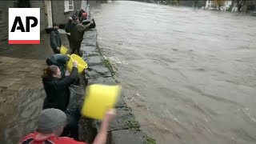
[(40, 44), (40, 8), (9, 8), (9, 44)]

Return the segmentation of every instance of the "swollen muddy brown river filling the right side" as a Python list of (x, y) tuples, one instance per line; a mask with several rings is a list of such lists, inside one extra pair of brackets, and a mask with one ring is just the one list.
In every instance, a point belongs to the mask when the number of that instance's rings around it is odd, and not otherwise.
[(256, 143), (256, 17), (122, 1), (94, 18), (126, 102), (157, 143)]

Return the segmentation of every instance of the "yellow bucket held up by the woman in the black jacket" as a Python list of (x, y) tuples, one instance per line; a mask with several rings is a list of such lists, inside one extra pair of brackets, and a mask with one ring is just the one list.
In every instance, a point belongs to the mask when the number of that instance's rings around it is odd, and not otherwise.
[(67, 54), (70, 57), (70, 61), (67, 62), (66, 69), (71, 72), (73, 68), (73, 62), (77, 61), (78, 62), (78, 74), (82, 73), (82, 70), (87, 69), (87, 63), (77, 54)]

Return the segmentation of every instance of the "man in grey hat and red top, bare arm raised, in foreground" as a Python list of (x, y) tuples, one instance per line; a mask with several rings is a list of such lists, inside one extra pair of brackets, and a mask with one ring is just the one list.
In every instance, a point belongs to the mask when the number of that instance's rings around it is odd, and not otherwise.
[[(102, 120), (101, 129), (96, 135), (93, 144), (106, 144), (108, 127), (115, 116), (115, 110), (107, 110)], [(66, 124), (66, 114), (58, 109), (46, 109), (38, 116), (38, 129), (23, 137), (20, 144), (86, 144), (78, 142), (72, 138), (59, 137), (62, 134), (63, 127)]]

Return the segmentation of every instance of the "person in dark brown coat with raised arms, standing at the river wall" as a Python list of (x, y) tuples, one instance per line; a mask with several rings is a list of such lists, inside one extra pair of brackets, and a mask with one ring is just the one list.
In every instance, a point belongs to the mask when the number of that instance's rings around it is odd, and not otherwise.
[(77, 54), (82, 56), (82, 54), (80, 54), (80, 47), (84, 31), (93, 23), (93, 21), (90, 21), (89, 24), (84, 26), (82, 23), (80, 23), (78, 17), (74, 19), (74, 27), (70, 33), (70, 48), (72, 50), (71, 54), (74, 54), (75, 51), (78, 51)]

